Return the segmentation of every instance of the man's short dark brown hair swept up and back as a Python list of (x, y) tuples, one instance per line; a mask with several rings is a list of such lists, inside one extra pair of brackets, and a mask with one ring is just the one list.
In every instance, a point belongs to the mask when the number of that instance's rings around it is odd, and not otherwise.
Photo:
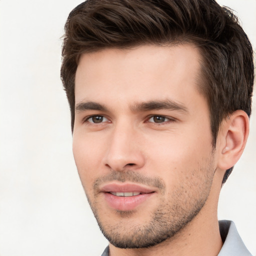
[[(254, 79), (252, 47), (237, 17), (215, 0), (87, 0), (65, 24), (61, 79), (74, 124), (74, 78), (82, 53), (142, 44), (190, 42), (202, 56), (200, 91), (210, 111), (212, 145), (222, 119), (248, 116)], [(226, 170), (223, 178), (230, 174)]]

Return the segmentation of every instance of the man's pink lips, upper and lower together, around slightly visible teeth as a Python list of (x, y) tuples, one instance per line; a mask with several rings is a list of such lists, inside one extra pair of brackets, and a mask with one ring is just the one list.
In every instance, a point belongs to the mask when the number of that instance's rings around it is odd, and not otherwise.
[[(153, 194), (154, 190), (139, 184), (118, 184), (109, 183), (100, 187), (100, 191), (104, 194), (104, 199), (108, 206), (115, 210), (128, 211), (133, 210), (143, 204)], [(110, 192), (140, 192), (138, 195), (132, 196), (116, 196)]]

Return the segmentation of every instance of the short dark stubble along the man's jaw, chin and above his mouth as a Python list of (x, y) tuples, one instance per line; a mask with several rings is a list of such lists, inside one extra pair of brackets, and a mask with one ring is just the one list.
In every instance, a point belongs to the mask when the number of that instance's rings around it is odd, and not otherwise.
[[(186, 190), (188, 187), (185, 186), (185, 182), (183, 182), (181, 186), (176, 186), (169, 196), (170, 199), (166, 203), (159, 204), (157, 208), (150, 213), (150, 220), (140, 225), (125, 225), (125, 220), (130, 223), (129, 219), (132, 219), (133, 215), (136, 214), (136, 212), (132, 210), (116, 210), (116, 216), (121, 217), (122, 223), (124, 224), (111, 224), (111, 221), (102, 221), (96, 200), (94, 200), (94, 203), (91, 203), (88, 196), (87, 199), (101, 232), (111, 244), (118, 248), (147, 248), (178, 235), (180, 230), (182, 230), (201, 210), (209, 195), (214, 171), (212, 170), (211, 164), (209, 168), (200, 169), (200, 171), (204, 171), (205, 173), (204, 181), (202, 181), (200, 187), (196, 188), (195, 193), (190, 194), (189, 189), (188, 191)], [(194, 173), (196, 173), (195, 170)], [(114, 176), (114, 180), (121, 182), (129, 180), (139, 183), (148, 183), (148, 180), (142, 182), (143, 177), (133, 171), (115, 172), (111, 177), (112, 176)], [(103, 179), (110, 180), (112, 179), (111, 177), (109, 175)], [(189, 182), (189, 179), (186, 180)], [(162, 181), (159, 179), (155, 180), (155, 183), (159, 184), (159, 182)], [(97, 183), (98, 180), (94, 183), (94, 187)], [(161, 184), (161, 188), (161, 193), (163, 194), (165, 191), (164, 183)]]

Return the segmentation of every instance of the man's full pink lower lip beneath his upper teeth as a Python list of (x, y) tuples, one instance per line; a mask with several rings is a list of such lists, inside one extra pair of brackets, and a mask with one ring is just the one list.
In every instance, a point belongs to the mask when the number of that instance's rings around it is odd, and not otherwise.
[(107, 192), (104, 192), (105, 200), (111, 208), (116, 210), (133, 210), (135, 207), (143, 203), (153, 193), (144, 193), (133, 196), (116, 196)]

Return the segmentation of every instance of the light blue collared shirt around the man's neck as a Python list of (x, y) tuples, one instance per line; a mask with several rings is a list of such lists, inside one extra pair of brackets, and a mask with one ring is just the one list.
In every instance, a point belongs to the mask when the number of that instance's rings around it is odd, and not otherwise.
[[(234, 222), (231, 220), (218, 221), (219, 231), (223, 240), (223, 246), (218, 256), (252, 256), (245, 247), (239, 236)], [(109, 247), (107, 246), (101, 256), (109, 256)]]

